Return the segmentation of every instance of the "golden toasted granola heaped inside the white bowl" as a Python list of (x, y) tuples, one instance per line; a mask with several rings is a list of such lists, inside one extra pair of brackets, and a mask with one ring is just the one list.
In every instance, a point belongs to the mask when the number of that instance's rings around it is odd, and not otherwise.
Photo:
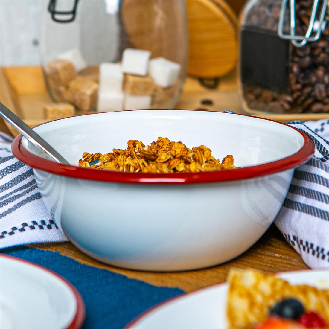
[(189, 149), (181, 141), (162, 137), (147, 146), (131, 139), (125, 150), (113, 149), (113, 152), (106, 154), (85, 152), (82, 158), (79, 160), (80, 167), (126, 172), (174, 173), (236, 168), (232, 155), (227, 155), (220, 162), (204, 145)]

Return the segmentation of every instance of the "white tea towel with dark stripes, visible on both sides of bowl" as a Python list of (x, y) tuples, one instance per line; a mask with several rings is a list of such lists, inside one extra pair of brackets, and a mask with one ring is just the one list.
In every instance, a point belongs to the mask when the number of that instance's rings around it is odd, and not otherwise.
[[(329, 120), (289, 124), (313, 138), (316, 152), (295, 170), (275, 224), (308, 266), (329, 267)], [(0, 248), (66, 241), (40, 199), (32, 169), (13, 157), (11, 141), (0, 134)]]

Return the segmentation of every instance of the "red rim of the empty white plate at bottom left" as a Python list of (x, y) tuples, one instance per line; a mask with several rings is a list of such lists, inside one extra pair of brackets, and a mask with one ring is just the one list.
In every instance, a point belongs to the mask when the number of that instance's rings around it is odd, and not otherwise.
[(86, 318), (86, 306), (85, 306), (82, 296), (80, 295), (80, 292), (70, 282), (68, 282), (65, 278), (63, 278), (61, 275), (57, 274), (56, 272), (54, 272), (46, 267), (43, 267), (41, 265), (26, 261), (25, 259), (20, 259), (17, 257), (4, 255), (4, 254), (0, 255), (0, 257), (10, 258), (15, 261), (22, 262), (22, 263), (40, 268), (41, 270), (48, 272), (49, 274), (56, 276), (59, 280), (61, 280), (65, 284), (65, 286), (73, 293), (74, 298), (77, 302), (74, 317), (73, 317), (72, 321), (70, 322), (70, 324), (66, 327), (66, 329), (79, 329), (82, 327), (82, 325), (85, 321), (85, 318)]

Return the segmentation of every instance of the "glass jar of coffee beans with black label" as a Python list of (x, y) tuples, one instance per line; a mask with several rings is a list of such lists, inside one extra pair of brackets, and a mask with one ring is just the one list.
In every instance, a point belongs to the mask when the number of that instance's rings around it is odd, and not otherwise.
[(245, 4), (239, 22), (238, 86), (246, 113), (329, 113), (327, 0), (314, 3)]

